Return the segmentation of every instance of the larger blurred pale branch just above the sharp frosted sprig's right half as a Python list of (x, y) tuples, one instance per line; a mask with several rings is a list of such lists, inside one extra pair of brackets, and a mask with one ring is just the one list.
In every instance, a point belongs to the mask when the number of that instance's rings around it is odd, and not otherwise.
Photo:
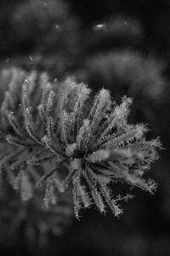
[(83, 79), (96, 87), (97, 84), (106, 86), (115, 93), (127, 90), (129, 96), (143, 96), (159, 102), (165, 93), (164, 68), (154, 58), (133, 51), (116, 51), (94, 55), (87, 60)]

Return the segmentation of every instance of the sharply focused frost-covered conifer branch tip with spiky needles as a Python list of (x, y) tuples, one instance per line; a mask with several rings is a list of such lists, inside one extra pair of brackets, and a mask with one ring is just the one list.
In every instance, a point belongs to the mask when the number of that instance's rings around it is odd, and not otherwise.
[(145, 139), (145, 125), (127, 123), (132, 99), (123, 96), (118, 106), (109, 90), (100, 90), (94, 99), (90, 93), (72, 78), (50, 83), (45, 73), (13, 71), (1, 107), (8, 152), (2, 152), (1, 165), (23, 200), (32, 196), (31, 186), (23, 183), (44, 186), (46, 207), (55, 203), (54, 191), (64, 192), (71, 184), (77, 218), (82, 207), (92, 204), (100, 212), (108, 206), (118, 216), (120, 201), (131, 195), (114, 195), (115, 183), (150, 193), (156, 189), (143, 175), (161, 143)]

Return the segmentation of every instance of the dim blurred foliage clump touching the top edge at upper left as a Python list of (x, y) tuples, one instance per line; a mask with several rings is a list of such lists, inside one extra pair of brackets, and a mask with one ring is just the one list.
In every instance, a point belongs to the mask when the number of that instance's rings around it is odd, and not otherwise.
[(20, 44), (31, 44), (36, 53), (77, 53), (77, 20), (59, 0), (30, 0), (14, 10), (13, 26)]

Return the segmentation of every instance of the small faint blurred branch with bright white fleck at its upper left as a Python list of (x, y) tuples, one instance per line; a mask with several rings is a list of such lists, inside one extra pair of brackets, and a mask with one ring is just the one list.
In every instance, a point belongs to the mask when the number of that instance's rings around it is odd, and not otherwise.
[(127, 15), (115, 15), (101, 20), (89, 31), (87, 48), (90, 52), (105, 52), (124, 47), (138, 47), (143, 39), (139, 20)]

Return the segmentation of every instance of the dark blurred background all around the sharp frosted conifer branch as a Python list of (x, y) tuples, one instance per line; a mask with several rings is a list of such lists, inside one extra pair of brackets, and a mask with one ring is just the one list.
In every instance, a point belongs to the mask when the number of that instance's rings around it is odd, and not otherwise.
[[(22, 207), (20, 213), (18, 202), (8, 206), (14, 195), (10, 188), (1, 192), (0, 253), (170, 255), (170, 2), (1, 0), (0, 67), (1, 91), (4, 71), (15, 67), (47, 71), (51, 79), (73, 75), (94, 91), (111, 90), (118, 103), (122, 96), (131, 96), (129, 122), (148, 124), (149, 136), (161, 137), (165, 148), (147, 173), (158, 183), (156, 195), (133, 189), (135, 198), (119, 219), (110, 212), (102, 216), (95, 208), (82, 212), (80, 221), (66, 214), (66, 228), (46, 232), (42, 242), (39, 235), (32, 241), (20, 221), (24, 214), (35, 226), (32, 219), (42, 218), (42, 213), (27, 214)], [(46, 225), (48, 218), (43, 218)]]

